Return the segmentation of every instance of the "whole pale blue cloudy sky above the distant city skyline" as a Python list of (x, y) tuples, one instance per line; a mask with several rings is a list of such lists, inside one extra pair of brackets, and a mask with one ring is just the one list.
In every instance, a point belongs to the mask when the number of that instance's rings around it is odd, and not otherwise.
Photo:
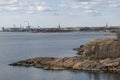
[(120, 25), (120, 0), (0, 0), (0, 27)]

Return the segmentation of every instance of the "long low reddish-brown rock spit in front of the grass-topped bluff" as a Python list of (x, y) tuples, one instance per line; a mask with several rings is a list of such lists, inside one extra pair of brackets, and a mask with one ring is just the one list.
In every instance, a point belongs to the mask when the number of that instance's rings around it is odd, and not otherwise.
[(10, 66), (35, 67), (45, 70), (87, 70), (103, 72), (119, 72), (120, 58), (103, 60), (86, 60), (82, 57), (37, 57), (16, 63)]

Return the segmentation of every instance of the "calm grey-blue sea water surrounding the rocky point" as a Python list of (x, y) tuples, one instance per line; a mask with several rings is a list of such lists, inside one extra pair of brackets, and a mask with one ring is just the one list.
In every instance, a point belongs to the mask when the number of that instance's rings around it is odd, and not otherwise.
[(32, 57), (75, 56), (73, 48), (105, 33), (0, 33), (0, 80), (120, 80), (120, 74), (46, 71), (36, 68), (11, 67), (9, 63)]

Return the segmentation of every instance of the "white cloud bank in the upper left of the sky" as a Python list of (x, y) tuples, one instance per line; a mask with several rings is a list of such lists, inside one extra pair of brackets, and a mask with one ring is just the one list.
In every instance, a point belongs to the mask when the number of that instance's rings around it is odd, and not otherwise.
[(39, 0), (0, 0), (0, 10), (36, 13), (53, 9), (45, 2)]

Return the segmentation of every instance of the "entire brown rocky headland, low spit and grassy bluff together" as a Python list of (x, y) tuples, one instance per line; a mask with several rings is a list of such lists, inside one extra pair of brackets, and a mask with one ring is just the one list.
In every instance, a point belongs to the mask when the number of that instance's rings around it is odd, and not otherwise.
[(45, 70), (120, 72), (120, 31), (117, 38), (92, 40), (79, 48), (74, 57), (36, 57), (9, 64)]

